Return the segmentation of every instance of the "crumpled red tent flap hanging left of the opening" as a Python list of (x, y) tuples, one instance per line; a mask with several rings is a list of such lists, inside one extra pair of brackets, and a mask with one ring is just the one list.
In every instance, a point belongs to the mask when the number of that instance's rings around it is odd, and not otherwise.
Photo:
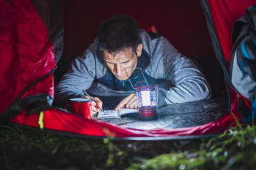
[(32, 3), (1, 1), (0, 12), (0, 112), (28, 95), (45, 93), (53, 98), (53, 75), (34, 84), (56, 63), (47, 29)]

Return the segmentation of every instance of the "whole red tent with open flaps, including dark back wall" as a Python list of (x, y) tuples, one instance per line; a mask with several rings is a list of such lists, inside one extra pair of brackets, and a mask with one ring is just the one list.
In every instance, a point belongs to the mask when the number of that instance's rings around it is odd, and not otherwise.
[[(140, 27), (148, 27), (153, 23), (186, 56), (217, 56), (225, 77), (228, 77), (225, 64), (230, 60), (232, 49), (232, 25), (246, 14), (246, 8), (254, 5), (255, 1), (188, 0), (155, 3), (114, 0), (1, 1), (1, 123), (73, 136), (155, 140), (220, 134), (235, 125), (231, 112), (241, 121), (237, 110), (237, 93), (231, 85), (228, 86), (231, 107), (222, 117), (205, 125), (173, 130), (127, 128), (88, 120), (52, 106), (54, 81), (58, 81), (61, 72), (56, 70), (56, 65), (66, 64), (81, 53), (96, 37), (100, 22), (118, 13), (134, 17)], [(202, 39), (195, 41), (198, 36)]]

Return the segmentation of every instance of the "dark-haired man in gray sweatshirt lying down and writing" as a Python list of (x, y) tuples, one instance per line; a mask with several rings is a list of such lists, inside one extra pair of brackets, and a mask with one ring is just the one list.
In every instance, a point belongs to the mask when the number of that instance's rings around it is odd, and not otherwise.
[[(191, 60), (182, 56), (158, 34), (139, 30), (134, 19), (116, 16), (100, 27), (98, 38), (78, 56), (56, 87), (55, 100), (63, 106), (72, 97), (86, 97), (82, 90), (93, 96), (126, 95), (116, 110), (137, 108), (135, 90), (141, 79), (159, 84), (159, 106), (209, 99), (211, 88)], [(125, 69), (127, 68), (127, 69)], [(103, 103), (94, 97), (92, 114)]]

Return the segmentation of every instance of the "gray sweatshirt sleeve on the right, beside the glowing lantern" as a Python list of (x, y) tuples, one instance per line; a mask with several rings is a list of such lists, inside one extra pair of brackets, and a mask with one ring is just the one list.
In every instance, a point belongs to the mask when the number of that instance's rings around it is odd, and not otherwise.
[(170, 88), (159, 87), (159, 106), (211, 98), (211, 88), (200, 70), (182, 56), (166, 38), (161, 38), (153, 50), (151, 70), (155, 77), (164, 78)]

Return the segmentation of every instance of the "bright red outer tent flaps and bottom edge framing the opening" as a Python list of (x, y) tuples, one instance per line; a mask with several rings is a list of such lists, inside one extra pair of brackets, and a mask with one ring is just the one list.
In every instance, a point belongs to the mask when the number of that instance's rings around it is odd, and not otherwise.
[[(201, 1), (215, 54), (222, 64), (231, 56), (231, 27), (246, 14), (255, 1)], [(184, 4), (186, 5), (186, 4)], [(54, 101), (54, 70), (63, 51), (63, 12), (61, 1), (0, 2), (0, 120), (1, 123), (23, 125), (38, 130), (72, 135), (129, 139), (205, 136), (224, 132), (235, 119), (237, 92), (230, 92), (231, 108), (222, 117), (195, 127), (173, 130), (138, 130), (85, 119), (61, 108)], [(8, 9), (8, 10), (7, 10)], [(226, 62), (226, 63), (224, 63)], [(245, 106), (246, 107), (246, 106)], [(240, 120), (240, 119), (239, 119)]]

